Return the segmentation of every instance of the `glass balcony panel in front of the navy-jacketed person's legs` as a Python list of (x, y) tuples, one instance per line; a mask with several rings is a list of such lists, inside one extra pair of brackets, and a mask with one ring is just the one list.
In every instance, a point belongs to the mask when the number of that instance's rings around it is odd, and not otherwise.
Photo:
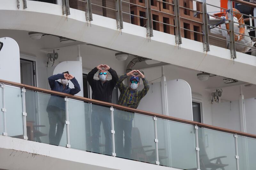
[(26, 90), (28, 140), (66, 146), (66, 108), (63, 97)]

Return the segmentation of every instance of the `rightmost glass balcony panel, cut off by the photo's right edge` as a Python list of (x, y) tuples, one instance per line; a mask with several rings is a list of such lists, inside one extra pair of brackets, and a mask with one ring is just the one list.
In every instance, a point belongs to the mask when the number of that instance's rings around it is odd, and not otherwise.
[(256, 139), (238, 136), (239, 169), (253, 170), (256, 167)]

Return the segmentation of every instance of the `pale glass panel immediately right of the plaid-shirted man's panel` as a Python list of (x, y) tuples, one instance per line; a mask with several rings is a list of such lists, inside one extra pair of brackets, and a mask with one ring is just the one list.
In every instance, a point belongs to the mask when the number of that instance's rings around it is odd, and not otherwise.
[(195, 127), (157, 118), (160, 165), (180, 169), (196, 168)]

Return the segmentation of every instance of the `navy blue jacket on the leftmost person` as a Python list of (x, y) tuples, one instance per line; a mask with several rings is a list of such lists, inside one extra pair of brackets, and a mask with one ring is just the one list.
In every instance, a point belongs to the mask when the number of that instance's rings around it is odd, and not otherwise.
[[(63, 89), (63, 85), (60, 82), (56, 81), (61, 78), (64, 79), (64, 74), (56, 74), (56, 75), (53, 75), (48, 78), (51, 90), (56, 91), (56, 92), (72, 94), (72, 95), (75, 95), (81, 91), (80, 85), (78, 84), (75, 77), (70, 80), (74, 84), (74, 87), (75, 87), (72, 89), (68, 87), (69, 84), (66, 85), (65, 89)], [(62, 97), (62, 96), (52, 94), (49, 99), (47, 109), (49, 108), (49, 106), (54, 106), (54, 107), (58, 107), (59, 109), (65, 110), (65, 102), (64, 102), (63, 98), (64, 97)]]

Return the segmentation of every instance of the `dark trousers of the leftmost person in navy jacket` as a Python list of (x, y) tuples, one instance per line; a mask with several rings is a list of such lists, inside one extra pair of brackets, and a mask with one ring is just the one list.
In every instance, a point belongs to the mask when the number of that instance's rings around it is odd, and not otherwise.
[[(58, 107), (49, 106), (47, 107), (48, 118), (49, 118), (49, 143), (59, 145), (63, 134), (66, 113), (65, 110), (59, 109)], [(56, 131), (57, 126), (57, 131)]]

